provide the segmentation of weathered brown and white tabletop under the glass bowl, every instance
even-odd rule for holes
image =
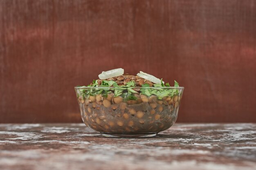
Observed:
[[[108,138],[84,124],[0,124],[1,170],[255,170],[256,124],[179,124]]]

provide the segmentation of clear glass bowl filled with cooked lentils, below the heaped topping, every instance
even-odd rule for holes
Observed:
[[[129,89],[170,93],[159,97],[127,87],[75,87],[86,126],[106,137],[152,137],[175,123],[184,87]]]

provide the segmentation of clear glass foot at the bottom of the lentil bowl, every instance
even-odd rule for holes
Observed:
[[[101,135],[105,137],[153,137],[157,135],[157,132],[152,133],[105,133],[101,132]]]

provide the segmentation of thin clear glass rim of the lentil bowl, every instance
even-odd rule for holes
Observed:
[[[141,88],[141,89],[184,89],[184,87],[84,87],[76,86],[75,89],[120,89],[120,88]]]

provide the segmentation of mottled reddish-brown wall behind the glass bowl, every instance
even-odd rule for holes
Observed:
[[[184,86],[179,122],[256,122],[256,1],[0,0],[0,122],[81,122],[120,67]]]

